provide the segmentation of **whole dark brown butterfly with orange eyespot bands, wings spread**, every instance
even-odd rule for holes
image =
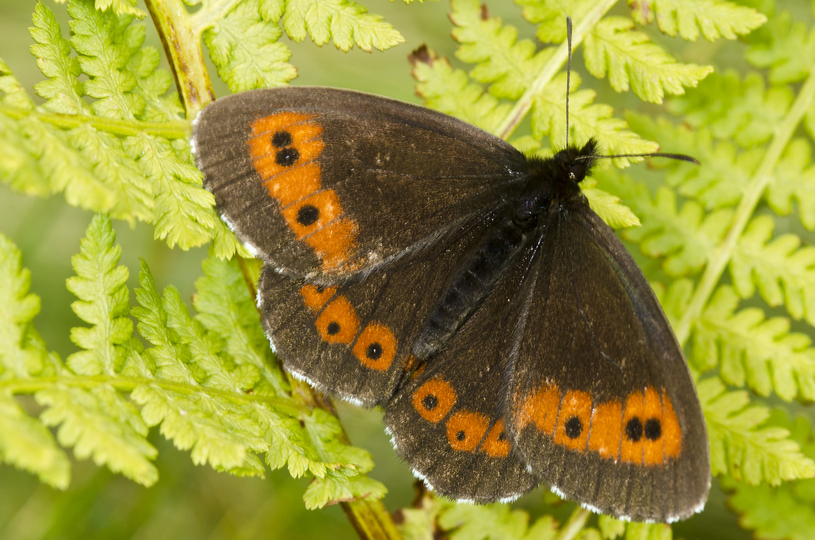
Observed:
[[[526,157],[428,108],[290,86],[214,101],[192,144],[262,259],[284,367],[380,405],[438,494],[508,501],[544,482],[632,520],[703,507],[707,434],[681,347],[579,188],[593,139]]]

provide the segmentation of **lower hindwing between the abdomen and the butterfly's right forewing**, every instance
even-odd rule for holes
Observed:
[[[399,455],[438,494],[492,502],[517,498],[540,481],[513,454],[500,392],[506,369],[500,343],[515,318],[505,308],[522,272],[513,268],[503,277],[385,407]]]

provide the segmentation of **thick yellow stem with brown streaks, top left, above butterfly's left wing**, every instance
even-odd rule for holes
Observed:
[[[215,99],[204,51],[201,50],[202,30],[194,24],[182,0],[145,0],[144,3],[170,60],[187,118],[194,118],[201,108]]]

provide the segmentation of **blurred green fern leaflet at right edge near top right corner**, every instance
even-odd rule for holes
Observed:
[[[756,68],[769,68],[770,82],[798,82],[809,75],[815,63],[815,29],[801,21],[792,22],[789,11],[774,15],[764,25],[766,39],[756,39],[747,51],[747,61]]]

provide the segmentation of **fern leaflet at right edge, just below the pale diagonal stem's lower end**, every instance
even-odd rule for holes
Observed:
[[[738,313],[738,295],[722,285],[696,321],[694,364],[719,367],[726,383],[747,386],[761,396],[775,391],[790,401],[815,399],[815,349],[805,334],[791,333],[782,317],[765,320],[760,308]]]

